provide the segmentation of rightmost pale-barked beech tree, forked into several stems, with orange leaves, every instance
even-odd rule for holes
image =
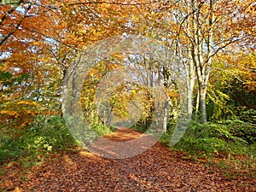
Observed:
[[[214,55],[232,44],[250,46],[255,16],[247,15],[253,1],[189,1],[191,30],[184,26],[189,38],[189,55],[195,66],[200,93],[201,123],[207,122],[206,95]],[[254,22],[255,23],[255,22]]]

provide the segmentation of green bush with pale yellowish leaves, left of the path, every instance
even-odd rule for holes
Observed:
[[[13,133],[12,133],[13,134]],[[67,149],[75,144],[60,116],[38,116],[22,134],[0,135],[0,161]]]

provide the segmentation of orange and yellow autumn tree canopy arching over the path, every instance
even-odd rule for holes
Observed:
[[[210,118],[207,100],[216,101],[213,92],[255,108],[240,96],[240,91],[255,93],[255,6],[253,0],[3,1],[0,120],[23,127],[35,115],[61,113],[61,86],[74,58],[114,35],[140,35],[166,44],[186,71],[189,116],[199,115],[202,123]],[[109,71],[95,70],[100,70],[93,73],[99,80]],[[93,86],[90,81],[87,88]],[[239,91],[230,96],[234,87]],[[124,104],[122,96],[129,98],[125,92],[119,96]]]

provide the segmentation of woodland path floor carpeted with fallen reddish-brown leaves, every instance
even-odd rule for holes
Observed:
[[[140,134],[118,129],[108,139],[128,141]],[[181,157],[162,143],[126,159],[73,149],[49,154],[28,169],[19,163],[2,166],[0,191],[256,191],[250,174],[227,177],[217,166]]]

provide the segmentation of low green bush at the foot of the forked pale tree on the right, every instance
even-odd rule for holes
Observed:
[[[160,141],[170,143],[172,132],[173,130],[165,133]],[[190,123],[181,140],[173,148],[195,157],[245,154],[250,150],[247,141],[233,135],[227,125],[202,125],[195,121]]]

